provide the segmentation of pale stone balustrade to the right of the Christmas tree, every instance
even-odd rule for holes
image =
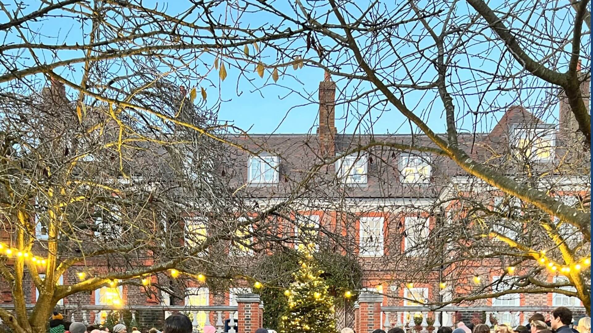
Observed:
[[[536,312],[549,313],[552,307],[533,307],[533,306],[445,306],[441,309],[428,309],[424,306],[382,306],[382,326],[385,331],[392,327],[401,327],[413,332],[417,327],[415,317],[422,316],[420,332],[428,332],[429,326],[436,332],[441,326],[454,328],[455,315],[457,312],[483,312],[485,315],[484,323],[490,327],[493,326],[493,318],[496,318],[498,324],[510,326],[527,325],[529,318]],[[584,307],[570,307],[573,311],[584,311]],[[406,315],[407,318],[406,318]],[[428,325],[427,319],[431,317],[434,324]]]

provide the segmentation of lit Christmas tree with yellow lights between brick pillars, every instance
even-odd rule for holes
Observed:
[[[284,292],[288,306],[280,318],[281,333],[336,333],[334,299],[311,255],[314,249],[314,244],[300,249],[301,267],[293,274],[295,282]]]

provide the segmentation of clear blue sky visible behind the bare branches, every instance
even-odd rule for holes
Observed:
[[[31,12],[39,6],[36,1],[25,1],[31,5],[27,8],[26,12]],[[165,2],[166,3],[166,2]],[[151,4],[145,2],[147,7],[151,7]],[[280,7],[285,6],[283,2],[275,1],[275,5]],[[166,12],[170,15],[175,15],[178,12],[183,11],[187,8],[187,4],[184,1],[171,1],[167,3]],[[13,5],[14,8],[14,5]],[[286,7],[284,7],[286,8]],[[464,10],[463,7],[461,10]],[[0,14],[0,22],[6,21],[5,14]],[[248,20],[255,20],[250,18]],[[261,20],[258,18],[257,20]],[[270,24],[274,24],[274,18],[266,17]],[[255,23],[247,21],[247,23]],[[38,29],[40,33],[43,33],[43,39],[47,43],[74,43],[75,41],[81,40],[84,35],[79,30],[79,24],[76,24],[74,20],[57,20],[49,19],[46,21],[40,21],[36,23],[34,29]],[[413,31],[409,31],[410,34]],[[51,36],[60,36],[59,39],[54,39]],[[14,37],[14,36],[12,36]],[[11,40],[11,36],[8,36],[8,40]],[[480,47],[474,47],[471,52],[479,54],[484,52]],[[63,53],[67,55],[67,53]],[[491,53],[495,59],[500,53]],[[72,56],[72,55],[68,55]],[[79,56],[79,55],[77,55]],[[489,66],[489,63],[484,62],[483,66]],[[319,82],[323,79],[323,71],[317,68],[306,67],[299,69],[297,72],[293,72],[292,68],[288,68],[287,71],[291,74],[297,75],[298,81],[289,76],[280,76],[277,84],[269,78],[269,73],[263,79],[260,79],[256,73],[247,73],[248,78],[254,79],[256,87],[250,84],[246,79],[238,79],[238,69],[227,68],[228,78],[219,84],[216,73],[212,73],[209,76],[216,85],[219,87],[211,87],[206,85],[208,91],[209,101],[211,98],[215,98],[220,91],[220,98],[224,102],[220,105],[219,119],[227,120],[234,123],[236,126],[243,129],[249,129],[250,133],[307,133],[312,129],[313,131],[315,124],[317,124],[317,113],[318,106],[312,101],[317,101],[317,87]],[[69,72],[71,69],[62,69],[62,74],[71,76],[79,75],[80,71]],[[58,71],[59,72],[59,71]],[[462,75],[467,75],[463,74]],[[239,80],[237,82],[237,80]],[[267,81],[266,81],[267,80]],[[266,85],[263,85],[266,82]],[[345,89],[343,81],[337,82],[338,93]],[[263,87],[262,87],[263,86]],[[256,89],[257,88],[257,89]],[[291,89],[299,92],[291,93]],[[350,87],[346,89],[350,93],[352,92]],[[311,98],[306,98],[311,96]],[[517,96],[512,94],[502,95],[500,100],[492,101],[492,104],[511,104],[513,100],[517,99]],[[480,103],[477,96],[465,97],[463,101],[456,101],[460,110],[473,110],[477,104]],[[428,96],[424,95],[423,92],[412,92],[406,95],[406,104],[413,108],[415,113],[423,114],[423,119],[432,127],[436,132],[444,132],[444,116],[442,114],[442,105],[438,99],[435,100],[434,92]],[[479,110],[483,111],[484,106],[487,103],[482,102]],[[356,109],[361,107],[361,110]],[[476,107],[477,108],[477,107]],[[551,107],[552,113],[557,114],[557,106]],[[430,112],[427,114],[427,110]],[[366,111],[364,105],[352,103],[350,105],[339,105],[336,108],[336,127],[340,131],[346,129],[346,132],[352,132],[356,124],[355,117],[358,113]],[[499,111],[495,114],[490,114],[488,119],[480,121],[478,132],[486,131],[492,128],[496,123],[496,120],[502,116],[503,111]],[[471,117],[466,117],[458,120],[460,127],[471,130]],[[373,110],[371,115],[366,119],[366,127],[371,127],[374,133],[409,133],[410,126],[407,124],[406,119],[401,116],[399,111],[391,105],[387,105],[384,110]],[[363,128],[362,130],[370,130]]]

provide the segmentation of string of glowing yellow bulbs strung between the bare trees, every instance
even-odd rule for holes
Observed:
[[[40,267],[47,264],[47,260],[42,257],[36,256],[36,255],[32,254],[31,252],[22,251],[17,248],[12,248],[11,246],[8,246],[8,245],[2,244],[2,243],[0,243],[0,255],[5,255],[8,258],[12,258],[12,257],[23,258],[23,260],[31,261],[33,264],[39,265]],[[573,271],[578,272],[578,271],[581,271],[583,268],[591,266],[591,255],[581,258],[579,260],[576,260],[570,265],[558,264],[557,262],[550,260],[550,258],[546,256],[545,250],[541,250],[540,252],[538,252],[537,257],[538,257],[537,262],[540,265],[546,267],[549,271],[551,271],[551,273],[560,273],[565,276],[568,276]],[[508,266],[508,267],[506,267],[505,271],[509,275],[514,275],[515,272],[517,271],[517,267]],[[182,274],[180,271],[175,270],[175,269],[170,269],[170,270],[168,270],[168,272],[169,272],[169,275],[171,276],[171,278],[177,278],[180,276],[180,274]],[[183,274],[185,274],[185,273],[183,273]],[[79,280],[81,280],[81,281],[83,281],[87,278],[87,273],[85,273],[85,272],[78,272],[77,275],[78,275]],[[189,275],[196,277],[197,280],[200,282],[206,281],[206,276],[202,273],[197,274],[197,275],[196,274],[189,274]],[[151,276],[143,276],[140,278],[140,281],[143,286],[148,286],[149,284],[151,284]],[[475,284],[482,283],[482,277],[480,277],[479,275],[473,276],[473,282]],[[117,287],[119,285],[119,283],[122,283],[122,280],[114,279],[114,280],[109,280],[109,282],[108,282],[110,287]],[[264,285],[260,281],[254,281],[253,287],[256,289],[261,289],[264,287]],[[412,289],[414,287],[414,283],[413,282],[406,283],[406,287],[408,289]],[[445,288],[447,288],[447,283],[441,282],[441,283],[439,283],[439,287],[441,289],[445,289]],[[378,284],[375,288],[377,289],[377,292],[382,293],[382,291],[383,291],[382,284]],[[285,294],[286,293],[289,293],[289,290],[285,290]],[[350,290],[346,290],[346,292],[343,293],[343,296],[346,299],[349,299],[350,297],[353,296],[353,292]]]

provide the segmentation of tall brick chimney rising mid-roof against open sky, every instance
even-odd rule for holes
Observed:
[[[319,82],[319,127],[317,127],[320,155],[325,157],[332,157],[336,153],[335,105],[336,83],[331,81],[330,73],[326,72],[323,81]]]

